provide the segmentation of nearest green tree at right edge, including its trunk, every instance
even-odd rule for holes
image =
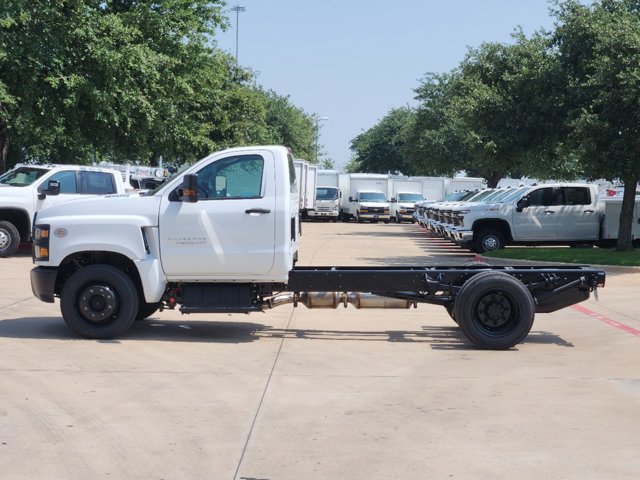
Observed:
[[[559,149],[590,179],[620,179],[625,190],[618,250],[631,250],[640,180],[640,1],[557,5],[555,45],[567,78],[569,135]]]

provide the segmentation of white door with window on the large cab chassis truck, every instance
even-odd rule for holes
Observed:
[[[271,271],[275,256],[273,154],[214,158],[198,174],[198,201],[176,190],[160,206],[160,249],[167,276],[238,279]]]

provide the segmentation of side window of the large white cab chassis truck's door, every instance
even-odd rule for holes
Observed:
[[[228,157],[198,172],[198,198],[260,198],[264,159],[259,155]]]

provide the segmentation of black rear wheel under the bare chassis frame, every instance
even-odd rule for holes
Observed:
[[[522,342],[531,330],[535,303],[531,292],[512,276],[480,272],[462,286],[453,316],[467,339],[490,350]]]

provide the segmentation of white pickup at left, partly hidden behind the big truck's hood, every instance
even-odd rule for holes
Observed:
[[[124,194],[114,169],[75,165],[20,164],[0,176],[0,257],[31,240],[35,213],[87,195]]]

